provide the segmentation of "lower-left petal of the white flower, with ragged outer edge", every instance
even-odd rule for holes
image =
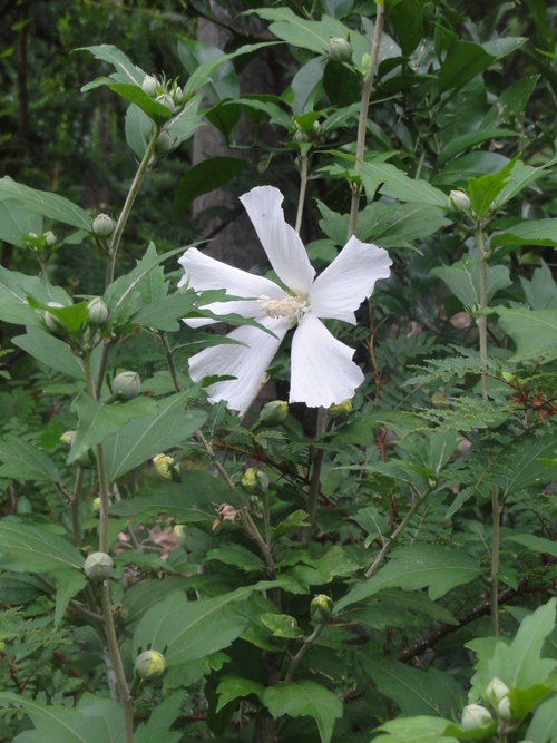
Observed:
[[[209,402],[227,400],[227,408],[240,411],[245,411],[248,407],[263,374],[291,326],[290,321],[273,320],[266,315],[261,323],[272,330],[276,338],[257,327],[244,325],[229,333],[228,338],[245,345],[214,345],[189,359],[189,374],[194,382],[213,374],[236,378],[211,384],[207,388]]]

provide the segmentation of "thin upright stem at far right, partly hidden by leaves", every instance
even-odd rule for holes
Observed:
[[[487,361],[487,314],[488,296],[487,296],[487,262],[488,256],[483,244],[483,232],[481,227],[476,231],[476,246],[478,248],[478,256],[480,261],[480,310],[482,313],[478,317],[478,333],[480,341],[480,359]],[[486,373],[481,374],[481,398],[487,401],[488,394],[488,377]],[[486,432],[486,438],[489,440],[491,434],[489,430]],[[488,454],[488,468],[491,467],[491,457]],[[499,550],[500,550],[500,505],[499,491],[495,485],[490,487],[491,492],[491,632],[494,635],[499,634],[499,598],[498,589],[499,581],[497,574],[499,573]]]

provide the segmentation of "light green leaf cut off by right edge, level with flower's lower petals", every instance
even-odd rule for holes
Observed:
[[[510,361],[534,361],[546,356],[541,363],[555,356],[557,349],[557,309],[529,310],[497,307],[499,326],[510,335],[517,350]]]

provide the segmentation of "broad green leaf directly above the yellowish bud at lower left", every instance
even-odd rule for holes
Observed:
[[[254,587],[238,588],[216,598],[188,602],[184,593],[172,594],[144,615],[134,633],[134,655],[138,648],[165,651],[172,667],[197,661],[228,647],[247,628],[248,620],[229,610],[228,604],[246,598]]]

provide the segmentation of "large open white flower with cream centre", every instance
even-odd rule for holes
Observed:
[[[245,411],[256,393],[286,331],[297,325],[292,339],[290,402],[329,408],[354,395],[363,382],[352,361],[353,349],[338,341],[321,319],[355,323],[354,311],[373,291],[378,278],[389,276],[387,251],[351,237],[336,258],[317,278],[297,233],[286,224],[277,188],[262,186],[241,196],[253,226],[280,281],[290,290],[263,276],[215,261],[190,247],[179,263],[196,292],[225,289],[242,301],[207,305],[215,314],[237,313],[252,317],[276,338],[257,327],[243,325],[229,338],[243,345],[216,345],[189,360],[189,373],[197,382],[213,374],[236,379],[207,388],[209,402],[226,400],[231,410]],[[192,327],[211,320],[186,320]]]

